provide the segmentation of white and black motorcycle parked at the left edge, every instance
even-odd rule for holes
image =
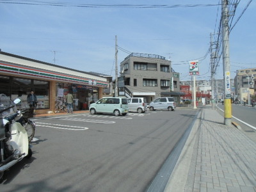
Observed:
[[[22,116],[15,104],[20,99],[8,99],[0,94],[0,179],[4,171],[21,161],[24,157],[30,158],[32,150],[29,147],[28,134],[20,123]]]

